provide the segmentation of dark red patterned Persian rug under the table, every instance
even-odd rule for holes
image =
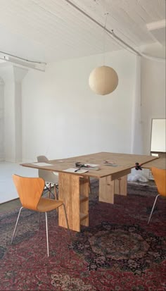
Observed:
[[[147,224],[156,187],[128,183],[114,204],[98,202],[98,181],[91,188],[89,227],[72,240],[49,213],[49,258],[44,214],[39,230],[38,214],[24,209],[12,245],[18,209],[0,215],[0,290],[166,290],[164,199]]]

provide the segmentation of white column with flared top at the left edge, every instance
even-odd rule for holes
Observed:
[[[27,69],[6,64],[0,68],[4,80],[5,161],[22,160],[22,81]]]

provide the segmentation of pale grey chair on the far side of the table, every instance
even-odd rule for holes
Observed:
[[[37,156],[37,161],[48,163],[49,159],[47,159],[46,156]],[[57,199],[57,197],[58,197],[58,173],[39,169],[38,175],[39,175],[39,178],[43,178],[45,180],[45,187],[49,191],[49,197],[50,197],[50,193],[53,194],[51,192],[51,185],[53,185],[55,199]],[[47,184],[49,184],[49,185],[47,186]]]

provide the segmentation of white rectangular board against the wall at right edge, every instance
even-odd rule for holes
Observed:
[[[151,151],[165,152],[166,119],[152,119],[151,126]]]

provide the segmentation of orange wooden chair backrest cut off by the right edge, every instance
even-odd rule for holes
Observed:
[[[166,170],[152,168],[152,175],[158,188],[158,193],[166,197]]]

